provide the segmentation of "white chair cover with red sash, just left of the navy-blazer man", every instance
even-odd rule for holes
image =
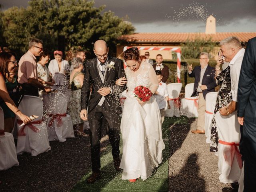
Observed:
[[[198,96],[191,97],[194,91],[194,83],[185,86],[185,98],[181,100],[180,114],[190,117],[198,117]]]

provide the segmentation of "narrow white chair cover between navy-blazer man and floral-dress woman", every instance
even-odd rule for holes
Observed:
[[[211,142],[212,118],[214,114],[217,96],[218,92],[210,92],[205,96],[206,112],[204,114],[204,131],[206,136],[206,143]]]

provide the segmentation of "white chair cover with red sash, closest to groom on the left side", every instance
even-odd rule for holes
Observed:
[[[70,95],[71,90],[58,90],[50,94],[43,94],[50,141],[64,142],[66,138],[75,137],[71,117],[66,114]]]

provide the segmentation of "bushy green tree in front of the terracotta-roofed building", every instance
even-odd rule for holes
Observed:
[[[216,46],[217,43],[212,42],[211,38],[203,39],[198,36],[194,41],[187,40],[181,44],[181,52],[184,58],[199,58],[201,52],[212,54]]]

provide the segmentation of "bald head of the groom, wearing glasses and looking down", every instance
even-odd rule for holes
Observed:
[[[101,63],[104,63],[108,57],[108,46],[104,40],[98,40],[94,43],[94,54]]]

